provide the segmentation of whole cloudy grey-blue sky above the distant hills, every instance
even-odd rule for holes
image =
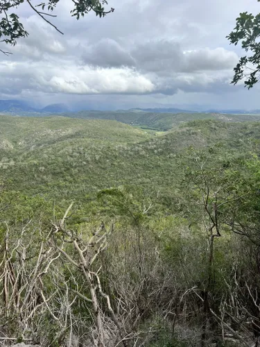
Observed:
[[[0,55],[0,99],[71,109],[180,107],[260,109],[260,84],[230,85],[243,55],[226,36],[257,0],[107,0],[105,18],[71,17],[60,0],[61,35],[26,1],[17,13],[30,34]],[[39,0],[32,0],[33,4]]]

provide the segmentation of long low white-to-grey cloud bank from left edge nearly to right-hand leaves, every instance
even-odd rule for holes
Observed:
[[[135,67],[93,67],[73,65],[70,60],[35,60],[27,62],[8,60],[0,63],[0,92],[19,94],[27,91],[63,94],[166,94],[178,90],[202,92],[225,85],[225,71],[168,70],[160,66],[157,71],[142,71]]]

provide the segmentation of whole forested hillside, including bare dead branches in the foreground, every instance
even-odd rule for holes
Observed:
[[[260,122],[135,115],[0,117],[1,332],[42,346],[252,346]]]

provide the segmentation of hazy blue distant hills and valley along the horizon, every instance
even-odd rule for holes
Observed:
[[[223,121],[258,121],[260,110],[207,110],[198,112],[180,108],[132,108],[130,110],[82,110],[71,111],[67,105],[55,103],[44,108],[33,108],[25,101],[0,100],[0,112],[3,115],[21,117],[46,117],[61,115],[63,117],[82,119],[107,119],[120,121],[132,126],[151,130],[169,130],[184,121],[194,119],[215,119]]]

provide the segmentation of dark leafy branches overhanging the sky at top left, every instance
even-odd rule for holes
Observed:
[[[17,39],[28,36],[28,32],[20,22],[19,16],[15,13],[15,10],[24,2],[27,2],[31,10],[40,16],[46,23],[63,34],[55,24],[47,19],[48,17],[57,17],[53,15],[52,12],[60,0],[49,0],[38,3],[37,5],[33,5],[31,0],[0,0],[0,14],[2,15],[0,22],[0,42],[15,46]],[[89,12],[95,12],[96,16],[105,17],[108,13],[114,12],[114,8],[105,10],[104,6],[106,5],[106,0],[72,0],[71,16],[80,19],[80,17],[84,17],[84,15],[87,15]],[[0,51],[7,55],[10,54],[10,52],[3,51],[2,49],[0,49]]]

